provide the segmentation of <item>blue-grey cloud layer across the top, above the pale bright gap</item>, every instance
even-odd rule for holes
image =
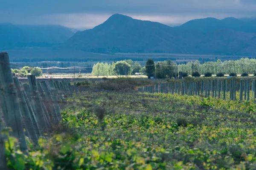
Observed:
[[[256,0],[255,0],[256,1]],[[67,14],[120,13],[146,16],[253,17],[254,0],[0,0],[0,22],[40,22],[40,18]],[[38,20],[36,19],[38,17]],[[62,19],[61,19],[62,20]],[[43,21],[42,21],[43,22]],[[47,20],[44,19],[44,23]]]

